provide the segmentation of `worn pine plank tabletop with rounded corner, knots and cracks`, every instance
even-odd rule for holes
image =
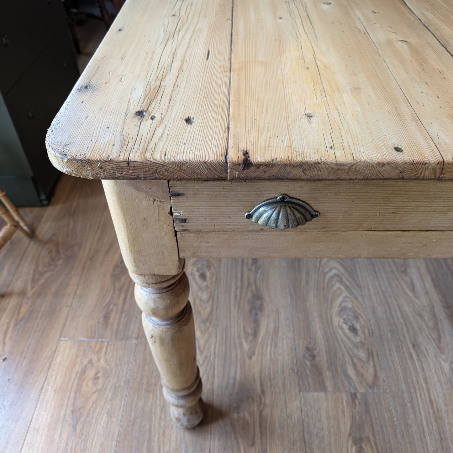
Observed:
[[[52,123],[104,179],[453,179],[451,0],[128,0]]]

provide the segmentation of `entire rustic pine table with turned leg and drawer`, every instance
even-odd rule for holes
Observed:
[[[452,18],[448,0],[124,4],[46,146],[102,180],[177,424],[203,416],[185,258],[453,256]]]

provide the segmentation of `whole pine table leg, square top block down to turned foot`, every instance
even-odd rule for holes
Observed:
[[[189,281],[176,245],[166,181],[102,181],[123,259],[136,282],[135,299],[163,393],[177,424],[200,423]]]

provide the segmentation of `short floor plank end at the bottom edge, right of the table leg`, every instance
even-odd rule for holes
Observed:
[[[304,393],[302,406],[307,453],[401,452],[385,394]]]

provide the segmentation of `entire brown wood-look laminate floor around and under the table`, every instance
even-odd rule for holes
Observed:
[[[203,423],[170,420],[99,181],[0,251],[0,452],[453,452],[453,260],[188,260]]]

